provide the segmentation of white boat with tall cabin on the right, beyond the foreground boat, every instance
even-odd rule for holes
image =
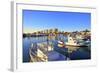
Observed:
[[[65,42],[67,46],[78,46],[78,47],[86,47],[88,46],[87,42],[82,39],[77,39],[71,36],[68,36],[68,41]]]

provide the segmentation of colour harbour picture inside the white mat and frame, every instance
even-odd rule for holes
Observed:
[[[23,63],[91,59],[91,13],[23,10]]]

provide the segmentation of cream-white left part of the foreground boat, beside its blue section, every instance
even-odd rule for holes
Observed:
[[[32,43],[30,48],[31,62],[48,61],[48,52],[53,51],[53,47],[47,43]]]

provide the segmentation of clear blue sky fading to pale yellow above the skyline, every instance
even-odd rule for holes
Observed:
[[[91,29],[91,13],[23,10],[22,17],[24,33],[55,28],[66,32]]]

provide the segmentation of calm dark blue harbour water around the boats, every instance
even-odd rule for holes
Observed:
[[[59,36],[59,38],[62,36]],[[64,41],[67,41],[66,37],[63,37]],[[29,62],[29,48],[32,43],[35,42],[46,42],[47,37],[30,37],[30,38],[23,38],[23,62]],[[91,52],[90,47],[58,47],[57,45],[57,39],[54,38],[52,40],[49,40],[53,43],[54,51],[62,54],[63,56],[69,58],[70,60],[83,60],[83,59],[90,59],[91,58]],[[61,58],[61,57],[60,57]]]

